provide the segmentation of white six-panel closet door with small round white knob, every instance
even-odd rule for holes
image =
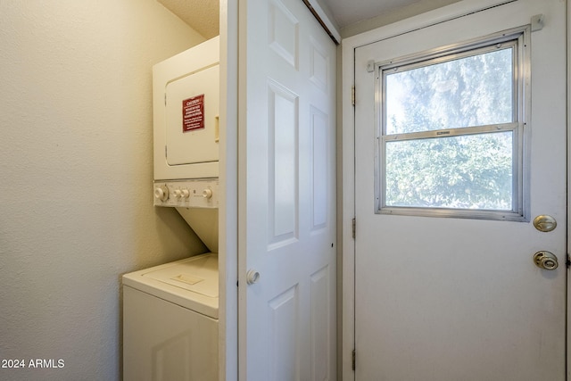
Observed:
[[[301,0],[241,8],[240,378],[335,373],[335,44]]]

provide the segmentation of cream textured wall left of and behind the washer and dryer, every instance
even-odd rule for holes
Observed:
[[[151,67],[202,41],[154,0],[0,2],[0,359],[64,360],[0,379],[120,379],[120,275],[204,250],[151,187]]]

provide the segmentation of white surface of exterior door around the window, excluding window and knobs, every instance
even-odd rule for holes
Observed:
[[[549,214],[558,227],[377,214],[376,73],[367,63],[518,28],[540,13],[525,181],[531,219]],[[564,2],[522,0],[356,49],[356,379],[565,379],[565,14]],[[541,250],[559,269],[534,265]]]

